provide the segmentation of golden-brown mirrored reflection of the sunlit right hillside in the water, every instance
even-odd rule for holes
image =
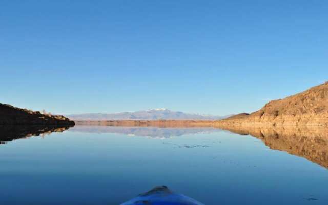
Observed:
[[[324,126],[221,126],[261,139],[274,150],[304,157],[328,168],[328,128]]]

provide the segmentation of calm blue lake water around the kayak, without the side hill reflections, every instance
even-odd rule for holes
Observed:
[[[0,204],[120,204],[159,185],[207,205],[328,203],[324,166],[214,128],[75,126],[0,145]]]

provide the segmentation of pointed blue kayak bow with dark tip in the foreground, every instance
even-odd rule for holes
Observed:
[[[166,186],[155,187],[154,189],[140,194],[139,196],[122,203],[121,205],[203,205],[202,203],[182,194],[175,194]]]

